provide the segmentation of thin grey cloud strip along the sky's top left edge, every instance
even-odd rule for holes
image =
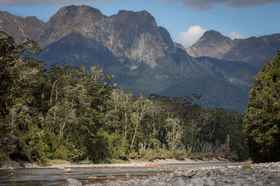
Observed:
[[[69,5],[69,4],[85,4],[85,3],[97,3],[107,2],[110,0],[0,0],[0,6],[31,6],[31,5]]]

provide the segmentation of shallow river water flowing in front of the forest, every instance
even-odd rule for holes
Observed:
[[[108,168],[72,168],[73,173],[62,173],[59,169],[15,169],[15,171],[0,170],[0,185],[62,185],[66,178],[75,178],[81,183],[94,183],[106,180],[106,176],[124,177],[130,174],[130,178],[153,176],[157,173],[172,173],[175,170],[189,169],[190,167],[207,166],[235,166],[238,163],[195,163],[195,164],[168,164],[148,167],[108,167]],[[13,177],[10,174],[13,173]],[[89,176],[97,176],[97,179],[89,179]]]

